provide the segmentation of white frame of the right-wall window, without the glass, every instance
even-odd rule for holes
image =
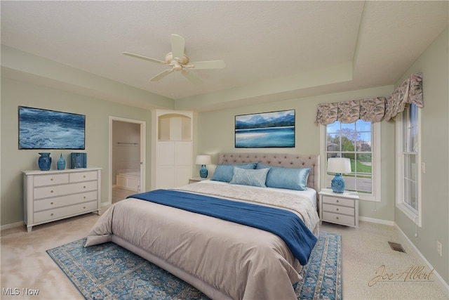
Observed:
[[[415,105],[415,104],[411,104]],[[404,114],[410,109],[396,115],[396,207],[403,212],[413,223],[421,227],[421,184],[422,184],[422,162],[421,162],[421,110],[417,109],[417,152],[416,152],[416,185],[417,185],[417,208],[414,209],[404,201]]]

